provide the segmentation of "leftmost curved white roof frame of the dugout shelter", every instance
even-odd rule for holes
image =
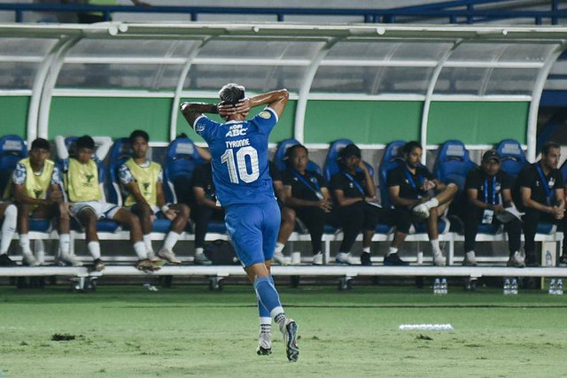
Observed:
[[[39,108],[43,93],[43,86],[45,78],[50,71],[53,60],[58,57],[59,51],[65,47],[66,43],[72,40],[73,37],[66,36],[56,42],[48,51],[42,64],[39,66],[37,73],[35,73],[34,84],[32,86],[32,96],[29,100],[29,107],[27,109],[27,145],[37,137],[37,119],[39,117]]]

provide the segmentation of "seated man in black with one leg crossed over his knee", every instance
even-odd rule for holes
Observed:
[[[406,143],[403,152],[405,164],[392,169],[386,181],[392,203],[396,209],[408,212],[415,220],[427,220],[433,264],[445,266],[447,260],[439,247],[437,220],[453,201],[457,186],[454,183],[445,185],[421,165],[423,148],[419,142]],[[384,261],[388,257],[389,254]]]

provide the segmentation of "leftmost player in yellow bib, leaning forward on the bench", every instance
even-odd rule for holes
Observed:
[[[63,194],[63,185],[58,166],[50,160],[50,143],[43,138],[32,142],[29,157],[19,160],[12,174],[12,196],[18,205],[19,246],[23,261],[29,266],[38,266],[29,247],[29,218],[55,219],[59,233],[58,256],[63,266],[82,266],[69,253],[69,204]]]

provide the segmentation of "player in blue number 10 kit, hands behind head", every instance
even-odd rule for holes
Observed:
[[[283,312],[270,274],[280,210],[268,172],[268,135],[276,126],[289,97],[286,89],[245,97],[245,88],[227,84],[219,92],[220,104],[183,103],[181,112],[209,145],[217,199],[225,209],[225,223],[238,258],[254,285],[260,312],[258,354],[270,354],[271,319],[283,333],[287,358],[299,359],[298,325]],[[250,109],[265,105],[246,120]],[[219,113],[226,123],[203,113]]]

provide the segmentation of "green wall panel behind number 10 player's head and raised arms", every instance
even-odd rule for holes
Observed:
[[[183,103],[185,101],[189,102],[198,102],[198,103],[216,103],[217,100],[213,98],[183,98],[180,102]],[[285,107],[285,111],[282,114],[282,117],[278,121],[276,127],[272,130],[269,135],[269,141],[272,143],[278,143],[283,139],[288,139],[293,137],[293,123],[295,122],[295,108],[297,106],[297,101],[288,101],[287,106]],[[264,109],[264,106],[259,106],[257,108],[252,109],[250,112],[250,116],[253,117],[254,115],[258,114]],[[216,120],[217,122],[222,122],[221,117],[216,114],[209,114],[209,118],[212,120]],[[179,117],[177,118],[177,134],[185,133],[187,134],[190,139],[195,142],[203,142],[203,139],[194,133],[191,130],[191,127],[181,114],[179,113]]]

